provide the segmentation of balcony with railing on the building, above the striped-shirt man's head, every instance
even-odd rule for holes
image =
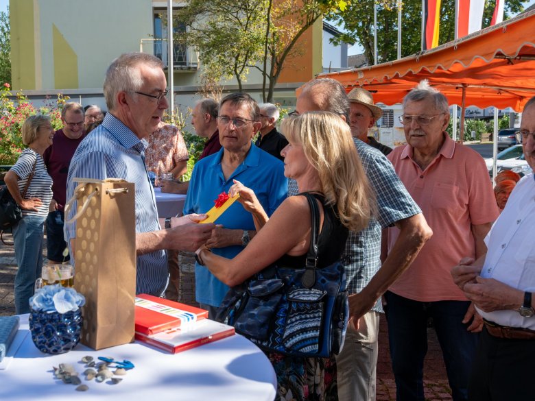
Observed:
[[[173,69],[174,71],[191,71],[199,69],[199,53],[192,47],[175,44],[173,46]],[[169,46],[165,38],[146,38],[139,42],[139,51],[154,54],[163,61],[165,67],[169,66]]]

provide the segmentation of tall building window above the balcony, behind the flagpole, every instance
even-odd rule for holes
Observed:
[[[180,32],[186,32],[186,27],[183,24],[173,25],[174,34],[180,34]],[[154,56],[160,58],[165,65],[168,56],[167,46],[167,9],[155,8],[154,9]],[[187,60],[187,47],[174,43],[173,45],[173,64],[176,66],[186,66]]]

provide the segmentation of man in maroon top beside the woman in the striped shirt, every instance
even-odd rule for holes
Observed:
[[[47,257],[49,263],[70,260],[64,256],[67,247],[63,238],[64,206],[67,191],[67,173],[73,154],[86,136],[84,109],[81,104],[69,102],[61,110],[63,127],[54,134],[53,143],[45,150],[43,160],[52,178],[52,202],[47,217]]]

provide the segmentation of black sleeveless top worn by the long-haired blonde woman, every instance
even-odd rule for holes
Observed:
[[[327,267],[342,257],[342,252],[346,247],[348,228],[342,224],[331,205],[325,204],[323,195],[311,193],[323,206],[323,226],[320,228],[318,236],[318,268]],[[299,196],[299,195],[296,195]],[[294,267],[302,269],[305,267],[307,252],[302,256],[284,255],[276,261],[280,267]]]

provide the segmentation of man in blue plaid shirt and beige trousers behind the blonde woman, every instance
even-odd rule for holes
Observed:
[[[349,100],[344,87],[331,79],[309,82],[297,99],[296,114],[329,111],[348,121]],[[337,356],[337,386],[340,400],[375,400],[377,334],[381,295],[416,258],[432,232],[422,211],[407,193],[385,156],[354,138],[368,180],[377,196],[378,215],[361,232],[350,232],[344,266],[350,293],[353,319],[342,352]],[[288,194],[298,193],[289,180]],[[401,230],[394,249],[381,266],[381,229],[396,226]]]

